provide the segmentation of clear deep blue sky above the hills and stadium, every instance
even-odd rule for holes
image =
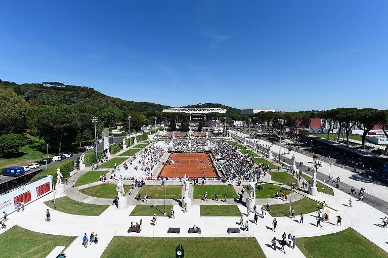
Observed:
[[[388,1],[3,1],[0,78],[170,106],[388,108]]]

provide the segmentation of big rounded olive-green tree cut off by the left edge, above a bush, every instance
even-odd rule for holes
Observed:
[[[28,104],[11,88],[0,88],[0,135],[21,132]]]

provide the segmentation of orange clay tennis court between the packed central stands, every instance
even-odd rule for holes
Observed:
[[[206,178],[217,177],[206,153],[173,153],[171,157],[175,163],[164,166],[162,177],[183,178],[186,174],[190,178],[202,178],[203,169]]]

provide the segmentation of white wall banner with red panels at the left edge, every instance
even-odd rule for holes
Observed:
[[[16,189],[8,194],[0,196],[0,216],[3,216],[3,211],[10,214],[16,211],[16,204],[23,201],[24,205],[33,202],[47,193],[53,191],[51,177],[40,179],[36,182]]]

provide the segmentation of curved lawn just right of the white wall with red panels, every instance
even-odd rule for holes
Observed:
[[[45,201],[45,204],[50,208],[54,208],[54,201]],[[106,210],[108,205],[96,205],[78,202],[73,199],[70,199],[67,196],[63,196],[55,199],[55,206],[57,210],[75,214],[75,215],[85,215],[85,216],[99,216],[104,210]]]

